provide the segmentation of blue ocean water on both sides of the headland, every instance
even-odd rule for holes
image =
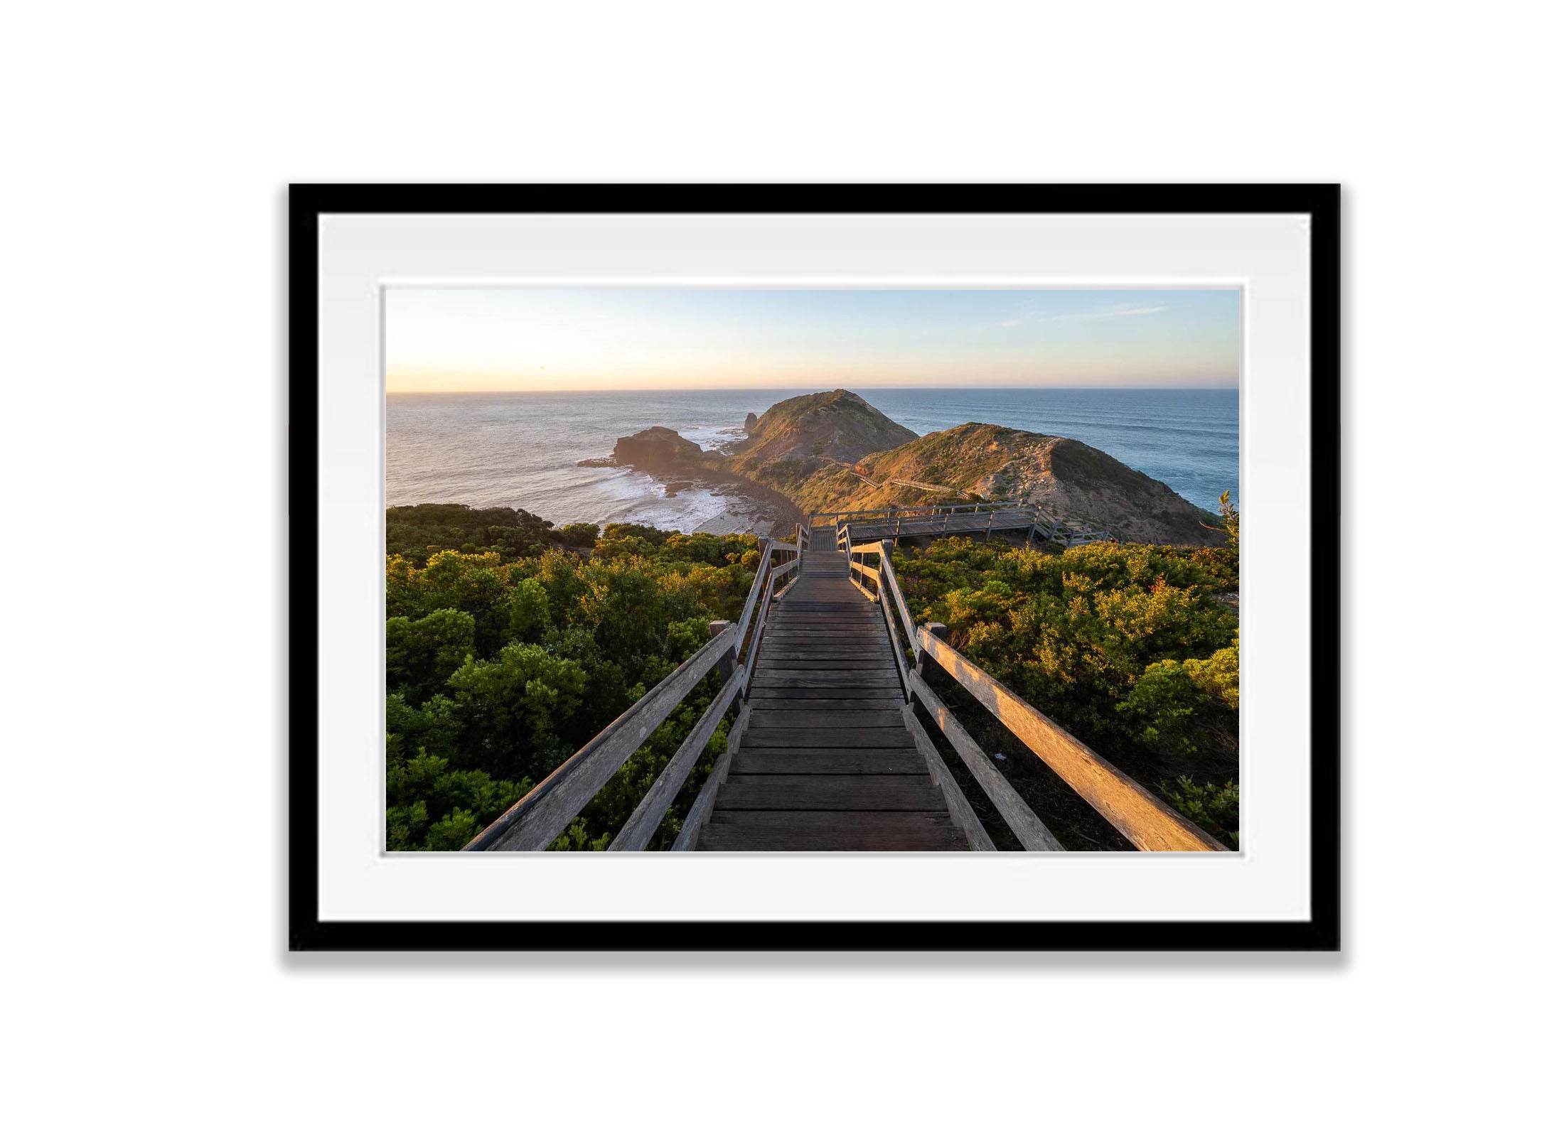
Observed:
[[[743,438],[762,414],[805,391],[547,391],[386,397],[386,505],[511,505],[555,524],[635,521],[694,532],[729,504],[632,469],[577,466],[621,435],[671,427],[705,449]],[[1195,505],[1239,499],[1239,393],[1060,388],[865,388],[873,407],[926,435],[993,422],[1079,438],[1167,482]]]

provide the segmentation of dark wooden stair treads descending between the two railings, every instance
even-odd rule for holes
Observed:
[[[749,683],[749,726],[694,843],[708,851],[968,849],[929,777],[881,608],[816,529]]]

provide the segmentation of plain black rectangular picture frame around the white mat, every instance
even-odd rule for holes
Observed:
[[[1311,918],[1306,921],[324,921],[319,918],[319,217],[375,213],[1309,214]],[[1340,948],[1340,186],[294,185],[288,199],[288,946],[294,951],[1336,951]]]

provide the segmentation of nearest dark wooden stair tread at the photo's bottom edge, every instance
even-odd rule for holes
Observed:
[[[962,832],[938,813],[848,810],[713,812],[701,834],[715,852],[956,852]]]

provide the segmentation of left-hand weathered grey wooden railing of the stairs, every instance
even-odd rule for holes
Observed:
[[[466,848],[475,852],[547,849],[554,838],[565,832],[565,827],[608,784],[608,779],[640,749],[652,730],[662,726],[663,719],[688,698],[696,683],[716,668],[723,677],[721,690],[608,846],[610,851],[644,849],[716,732],[723,715],[727,713],[734,699],[744,693],[754,671],[755,651],[765,632],[773,593],[788,577],[798,579],[799,551],[807,546],[807,530],[802,527],[795,532],[791,543],[763,540],[755,579],[744,597],[738,622],[713,621],[710,626],[712,638],[694,655],[674,668],[673,674],[647,691],[633,707],[561,762],[554,773],[533,787],[532,793],[505,810]],[[773,565],[771,557],[776,554],[780,554],[782,560]],[[782,591],[787,588],[791,588],[791,580],[787,580]],[[743,655],[743,663],[740,663],[740,655]],[[690,848],[696,830],[710,813],[716,785],[721,784],[718,773],[726,774],[727,762],[738,748],[738,738],[743,735],[746,723],[748,710],[741,710],[727,732],[727,752],[718,759],[718,769],[713,771],[713,777],[707,780],[696,798],[674,849]]]

